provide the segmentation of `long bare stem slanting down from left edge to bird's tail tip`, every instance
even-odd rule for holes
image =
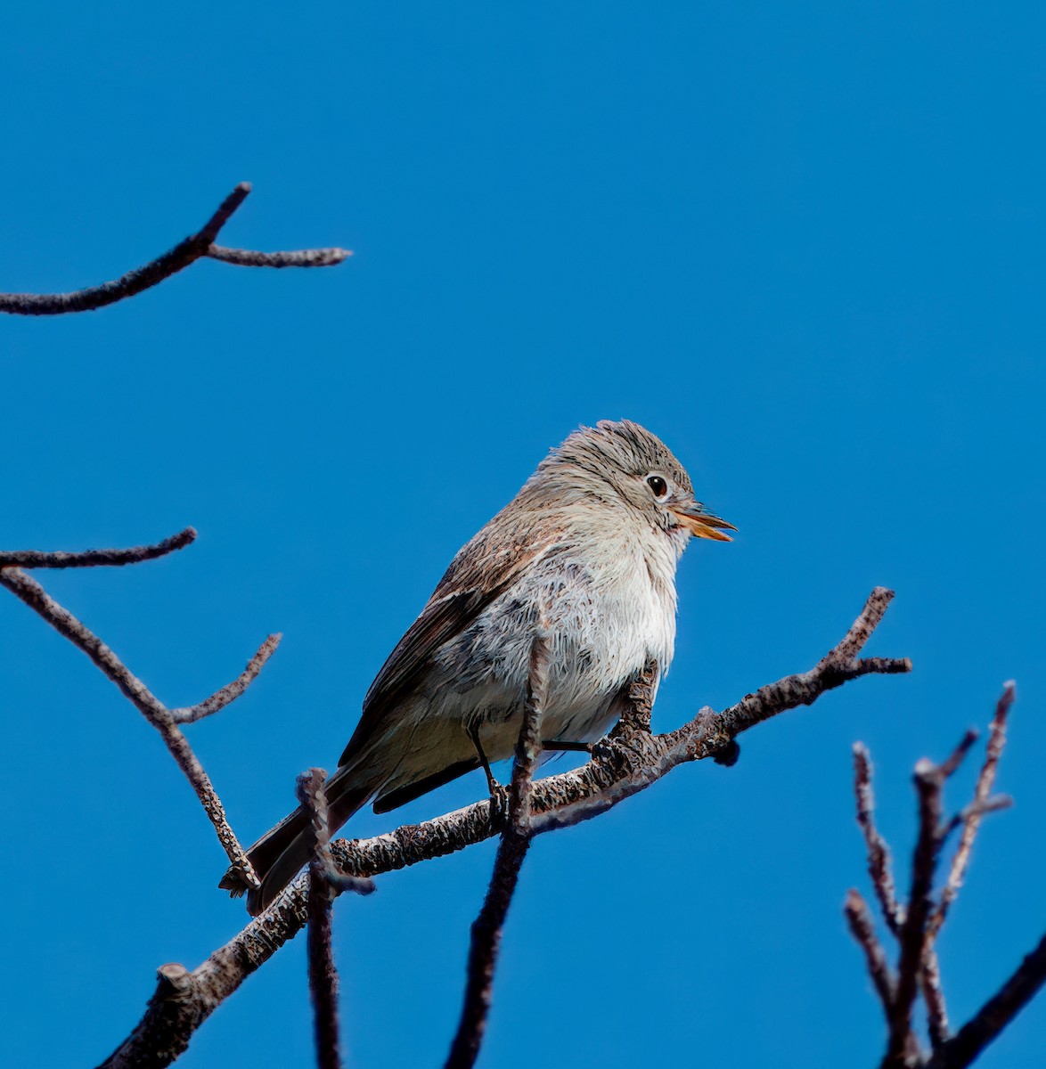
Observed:
[[[101,638],[82,624],[68,609],[63,608],[44,588],[17,568],[0,570],[0,586],[6,587],[34,613],[46,620],[60,635],[82,650],[102,672],[120,688],[121,693],[160,733],[178,766],[196,791],[204,812],[214,825],[229,861],[241,872],[243,880],[258,886],[258,876],[243,847],[226,818],[225,807],[211,779],[193,753],[185,735],[171,718],[167,707],[135,676]]]

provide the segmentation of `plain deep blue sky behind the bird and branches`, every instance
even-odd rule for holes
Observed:
[[[1016,807],[984,828],[941,941],[954,1019],[994,992],[1046,919],[1041,5],[189,0],[4,24],[0,289],[114,277],[241,180],[226,244],[355,251],[319,272],[200,263],[98,313],[0,323],[0,541],[198,527],[155,563],[43,576],[171,704],[286,634],[190,729],[245,841],[301,770],[333,766],[458,546],[570,430],[627,416],[740,529],[683,558],[656,725],[809,667],[876,584],[897,599],[872,652],[916,670],[538,841],[484,1064],[873,1064],[841,912],[865,888],[850,745],[872,748],[903,881],[912,765],[1015,678]],[[152,729],[10,597],[0,638],[0,872],[22,926],[0,1060],[91,1065],[157,965],[197,964],[244,915]],[[353,1064],[442,1062],[491,859],[339,902]],[[309,1020],[297,941],[183,1064],[308,1065]],[[1041,998],[983,1064],[1032,1064],[1044,1027]]]

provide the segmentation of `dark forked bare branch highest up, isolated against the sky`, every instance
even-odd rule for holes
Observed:
[[[136,267],[111,282],[103,282],[101,285],[72,293],[0,293],[0,312],[13,315],[60,315],[65,312],[95,311],[126,297],[134,297],[143,290],[184,270],[201,257],[252,267],[326,267],[341,263],[350,255],[344,249],[253,252],[216,246],[214,239],[218,236],[218,232],[243,204],[249,192],[250,183],[241,182],[197,233],[179,242],[174,248],[144,266]]]

